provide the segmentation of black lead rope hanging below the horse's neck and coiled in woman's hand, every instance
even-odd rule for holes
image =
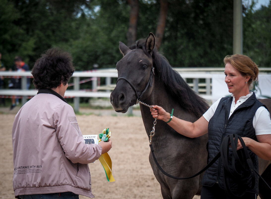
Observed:
[[[237,148],[238,138],[241,141],[243,149],[238,150],[239,152],[237,153],[236,148]],[[231,160],[229,158],[230,144],[231,144],[231,148],[233,149],[232,150],[233,155],[231,157]],[[211,162],[209,162],[209,164],[207,166],[205,166],[202,170],[200,170],[195,175],[185,177],[185,178],[179,178],[176,176],[172,176],[172,175],[168,174],[167,172],[165,172],[162,169],[162,167],[159,165],[159,163],[157,162],[157,159],[154,155],[154,150],[153,150],[153,147],[151,144],[150,144],[150,149],[151,149],[151,154],[153,156],[154,162],[156,163],[159,170],[164,175],[166,175],[170,178],[173,178],[173,179],[177,179],[177,180],[194,178],[195,176],[197,176],[197,175],[201,174],[202,172],[204,172],[205,170],[207,170],[221,156],[221,161],[224,164],[225,189],[230,196],[235,196],[235,197],[242,196],[242,195],[244,195],[244,192],[247,188],[249,188],[250,190],[253,189],[255,187],[255,173],[264,181],[264,179],[260,176],[260,174],[254,169],[252,160],[249,156],[249,153],[247,151],[247,147],[246,147],[243,139],[241,138],[241,136],[239,136],[237,134],[230,134],[230,135],[225,136],[225,138],[223,139],[222,144],[221,144],[221,151],[214,157],[214,159],[212,159]],[[230,169],[230,167],[229,167],[229,162],[231,162],[232,169]],[[236,179],[239,182],[241,182],[241,184],[242,184],[242,189],[241,189],[241,191],[239,191],[240,193],[238,195],[235,195],[230,190],[229,177],[227,177],[229,175],[233,179]],[[247,182],[249,178],[251,178],[251,185]],[[267,185],[267,187],[269,187],[269,185],[265,181],[264,181],[264,183]],[[270,187],[269,187],[269,189],[271,190]]]

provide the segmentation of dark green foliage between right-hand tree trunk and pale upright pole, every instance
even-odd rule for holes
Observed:
[[[174,67],[219,67],[232,52],[233,1],[170,1],[161,50]]]

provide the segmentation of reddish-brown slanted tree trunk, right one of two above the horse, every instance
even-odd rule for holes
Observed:
[[[159,21],[158,21],[157,29],[155,33],[155,37],[156,37],[155,43],[156,43],[157,49],[160,48],[162,40],[163,40],[164,30],[166,27],[167,10],[168,10],[167,0],[160,0]]]

